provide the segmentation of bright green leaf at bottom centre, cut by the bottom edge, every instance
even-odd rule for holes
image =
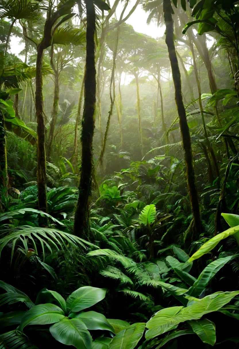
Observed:
[[[110,342],[109,349],[133,349],[142,338],[145,329],[144,322],[133,324],[119,332]]]

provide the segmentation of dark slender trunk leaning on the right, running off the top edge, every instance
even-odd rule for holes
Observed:
[[[169,60],[172,68],[173,82],[175,88],[175,102],[179,114],[179,124],[182,135],[182,144],[184,149],[184,159],[186,165],[186,177],[188,183],[188,192],[191,202],[191,207],[194,217],[194,230],[196,238],[199,237],[202,232],[201,215],[198,202],[197,188],[195,183],[195,174],[193,167],[193,156],[191,150],[191,138],[189,133],[189,127],[187,124],[186,111],[183,105],[182,99],[182,86],[181,76],[179,70],[179,64],[176,56],[174,38],[173,38],[173,18],[172,18],[172,6],[171,0],[164,0],[164,21],[166,25],[166,45],[168,47]]]

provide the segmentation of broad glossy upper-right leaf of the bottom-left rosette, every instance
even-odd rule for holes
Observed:
[[[67,298],[66,306],[70,308],[71,311],[78,312],[100,302],[105,296],[105,288],[91,286],[80,287]]]

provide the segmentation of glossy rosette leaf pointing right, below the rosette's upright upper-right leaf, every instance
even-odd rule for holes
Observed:
[[[103,314],[97,313],[95,311],[82,312],[75,314],[74,316],[71,316],[70,314],[69,317],[72,317],[74,319],[81,319],[86,325],[87,329],[101,329],[102,331],[106,330],[115,333],[114,328],[110,325],[106,317]]]

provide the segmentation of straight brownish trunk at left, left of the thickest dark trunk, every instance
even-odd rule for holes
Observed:
[[[37,119],[37,189],[38,208],[47,211],[46,200],[46,155],[45,155],[45,126],[43,118],[43,96],[42,96],[42,59],[43,45],[37,48],[36,59],[36,119]]]

